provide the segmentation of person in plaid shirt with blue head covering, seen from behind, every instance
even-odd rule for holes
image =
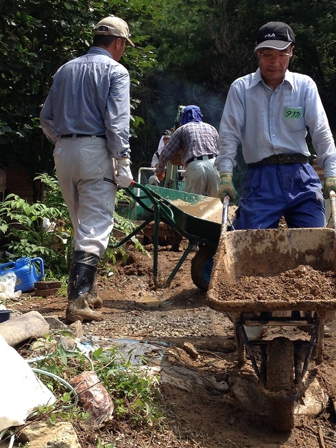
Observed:
[[[163,148],[156,167],[156,176],[162,180],[165,165],[173,156],[180,154],[184,174],[184,191],[217,198],[220,182],[219,172],[214,167],[219,154],[218,132],[202,121],[203,115],[198,106],[186,106],[182,110],[180,127]]]

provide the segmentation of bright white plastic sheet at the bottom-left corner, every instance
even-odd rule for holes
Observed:
[[[29,364],[0,336],[0,432],[23,425],[38,406],[51,405],[56,398],[36,377]]]

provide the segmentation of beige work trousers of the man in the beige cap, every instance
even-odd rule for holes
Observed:
[[[117,192],[107,141],[100,137],[62,138],[53,157],[73,225],[73,248],[101,258],[113,228]]]

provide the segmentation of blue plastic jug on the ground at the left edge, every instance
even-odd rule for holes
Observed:
[[[40,273],[36,272],[36,266]],[[16,275],[16,285],[14,292],[21,290],[22,292],[34,290],[34,283],[40,281],[45,275],[43,259],[40,257],[30,258],[23,257],[16,261],[9,261],[0,265],[0,275],[6,272],[14,272]]]

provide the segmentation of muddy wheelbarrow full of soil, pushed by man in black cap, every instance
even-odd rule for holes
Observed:
[[[309,362],[314,357],[316,364],[322,362],[324,324],[332,320],[336,309],[335,193],[331,194],[334,228],[228,232],[228,200],[227,196],[208,305],[232,321],[237,368],[243,366],[247,353],[267,397],[270,425],[289,431],[294,403],[304,397]],[[320,287],[309,283],[312,273],[321,279]],[[296,326],[309,330],[311,337],[252,341],[245,326]]]

